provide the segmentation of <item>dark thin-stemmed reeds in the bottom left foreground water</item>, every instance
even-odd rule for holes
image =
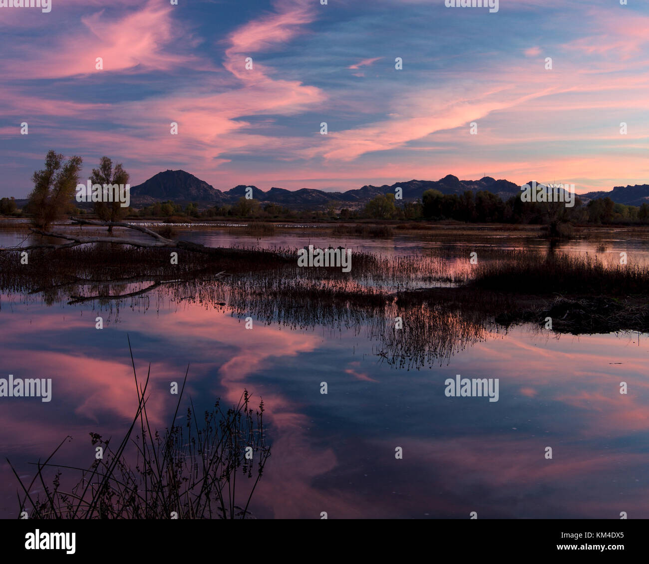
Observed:
[[[50,462],[67,437],[44,463],[36,464],[30,484],[12,466],[22,489],[19,513],[27,511],[30,519],[254,518],[249,504],[271,454],[263,401],[252,410],[251,396],[244,390],[236,406],[224,411],[217,401],[199,421],[190,400],[184,423],[177,424],[186,373],[171,424],[161,435],[152,432],[147,415],[150,373],[149,365],[141,384],[133,362],[136,414],[119,445],[90,434],[93,447],[103,448],[103,458],[90,468]],[[252,448],[252,460],[245,457],[247,447]],[[56,472],[48,485],[45,474],[52,469]],[[69,491],[61,484],[62,469],[80,474]],[[42,486],[43,497],[32,498],[34,484]]]

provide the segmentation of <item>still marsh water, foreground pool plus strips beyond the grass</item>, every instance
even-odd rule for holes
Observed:
[[[496,229],[345,241],[317,228],[262,239],[233,230],[179,236],[383,254],[451,242],[478,253],[484,245],[546,244],[533,232]],[[0,246],[23,238],[2,232]],[[649,255],[643,234],[615,230],[565,250],[625,251],[638,262]],[[5,458],[31,477],[29,463],[45,460],[66,435],[73,440],[55,461],[83,467],[95,453],[90,432],[121,439],[137,406],[128,334],[138,374],[151,363],[149,417],[160,430],[175,408],[169,383],[182,382],[188,363],[186,394],[199,412],[219,397],[236,403],[244,388],[263,397],[272,455],[251,502],[258,518],[649,518],[648,335],[559,337],[523,325],[487,330],[438,363],[401,369],[384,362],[362,323],[300,328],[253,317],[246,329],[244,318],[164,289],[119,307],[2,295],[0,377],[52,378],[53,393],[51,402],[0,399],[0,517],[18,516],[18,481]],[[456,374],[498,378],[498,401],[446,397],[445,380]],[[42,493],[40,484],[32,492]]]

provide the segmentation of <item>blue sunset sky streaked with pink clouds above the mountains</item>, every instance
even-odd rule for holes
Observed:
[[[0,197],[49,149],[131,186],[649,183],[644,0],[171,1],[0,0]]]

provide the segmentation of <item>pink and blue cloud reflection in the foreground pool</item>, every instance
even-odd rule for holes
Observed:
[[[649,517],[646,336],[499,330],[484,311],[506,303],[478,311],[461,307],[461,294],[418,300],[417,284],[402,292],[389,271],[350,286],[332,273],[317,291],[286,291],[313,275],[304,276],[186,281],[77,304],[67,302],[79,281],[32,294],[5,286],[3,373],[53,378],[53,400],[0,400],[2,460],[31,474],[28,462],[69,434],[60,461],[81,465],[93,456],[89,432],[123,434],[137,404],[129,334],[138,371],[151,362],[153,426],[164,427],[169,383],[188,362],[199,411],[217,397],[236,402],[243,387],[263,397],[273,456],[252,501],[257,517]],[[84,291],[148,282],[102,284]],[[377,299],[378,287],[392,299]],[[499,401],[445,397],[456,374],[499,378]],[[4,462],[0,480],[0,515],[16,517]]]

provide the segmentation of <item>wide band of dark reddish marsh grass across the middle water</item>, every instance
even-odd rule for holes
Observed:
[[[96,302],[109,309],[108,319],[121,305],[147,310],[149,299],[157,297],[158,310],[170,303],[199,304],[239,319],[251,315],[266,325],[365,332],[384,361],[409,369],[448,362],[454,352],[502,326],[541,323],[555,306],[568,308],[555,332],[649,328],[649,271],[643,265],[616,264],[615,254],[600,260],[490,246],[479,247],[479,263],[471,265],[470,249],[443,244],[412,256],[352,252],[349,273],[340,267],[300,268],[297,249],[291,248],[232,247],[210,256],[181,250],[178,265],[171,265],[165,249],[125,252],[95,245],[32,251],[29,265],[20,267],[12,251],[0,254],[0,288],[21,299],[42,295],[48,302],[82,293],[93,307]],[[214,280],[219,271],[227,276]],[[169,284],[145,287],[151,290],[147,295],[115,295],[172,277]],[[107,299],[109,292],[113,296]],[[578,306],[579,300],[600,295],[618,299],[620,307],[607,306],[600,315],[593,305],[600,302]],[[552,301],[557,296],[572,301],[557,305]],[[408,320],[399,332],[395,317]]]

